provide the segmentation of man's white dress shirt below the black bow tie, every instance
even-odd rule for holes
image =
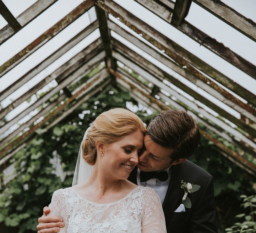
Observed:
[[[171,179],[171,173],[172,173],[172,169],[170,169],[170,167],[161,170],[161,171],[167,171],[168,172],[168,179],[166,181],[160,181],[157,178],[153,178],[153,179],[149,179],[147,181],[144,182],[140,182],[140,169],[138,168],[137,170],[137,184],[143,187],[150,187],[153,188],[156,193],[159,195],[160,199],[161,199],[161,203],[163,204],[164,202],[164,198],[168,189],[168,185]],[[157,171],[160,172],[160,171]]]

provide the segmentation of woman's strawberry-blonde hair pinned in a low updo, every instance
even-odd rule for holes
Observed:
[[[115,108],[100,114],[93,121],[83,141],[83,159],[89,165],[94,165],[97,157],[96,141],[100,144],[110,144],[137,130],[146,133],[142,120],[129,110]]]

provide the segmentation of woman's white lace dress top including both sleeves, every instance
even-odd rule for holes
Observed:
[[[137,186],[127,196],[109,204],[81,197],[73,188],[53,193],[48,216],[63,219],[63,232],[166,232],[161,200],[149,187]]]

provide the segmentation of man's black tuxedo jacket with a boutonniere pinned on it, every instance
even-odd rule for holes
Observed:
[[[201,167],[186,160],[174,165],[170,183],[163,202],[167,232],[173,233],[213,233],[215,227],[215,204],[213,178]],[[137,167],[133,169],[128,180],[137,184]],[[180,188],[181,180],[201,187],[193,194],[188,194],[191,208],[185,212],[174,211],[182,203],[184,190]]]

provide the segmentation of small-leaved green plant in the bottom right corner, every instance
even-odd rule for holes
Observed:
[[[250,212],[237,214],[235,217],[244,219],[243,222],[236,222],[233,226],[226,228],[227,233],[235,232],[256,232],[256,195],[246,196],[241,195],[243,198],[242,206],[244,209],[249,208]]]

